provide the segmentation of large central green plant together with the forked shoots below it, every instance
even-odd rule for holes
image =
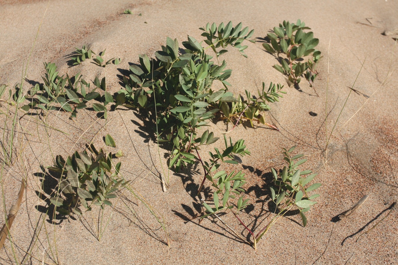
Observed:
[[[254,30],[243,27],[242,23],[233,26],[232,22],[225,25],[221,23],[218,26],[215,23],[211,25],[208,23],[200,29],[203,31],[201,34],[204,37],[203,41],[199,42],[188,36],[187,41],[182,42],[183,52],[179,52],[177,39],[168,37],[166,45],[155,52],[155,58],[149,58],[145,54],[140,55],[139,64],[131,65],[129,75],[123,77],[124,87],[117,93],[116,107],[124,106],[138,110],[150,120],[154,120],[158,143],[169,147],[169,168],[178,171],[189,164],[197,162],[201,164],[204,172],[203,181],[197,195],[202,197],[201,192],[206,180],[214,189],[214,193],[211,203],[207,201],[209,198],[201,199],[205,213],[200,220],[209,216],[220,219],[220,212],[230,211],[238,223],[252,235],[251,242],[220,220],[240,240],[252,244],[256,249],[261,236],[293,206],[301,209],[300,215],[305,226],[306,219],[303,213],[314,204],[311,201],[314,196],[308,197],[306,190],[299,190],[310,181],[311,177],[307,177],[306,183],[297,186],[298,174],[305,175],[308,171],[300,173],[300,170],[297,170],[298,164],[290,164],[289,170],[284,169],[282,180],[278,177],[275,179],[275,187],[280,188],[271,190],[273,201],[277,205],[284,203],[279,213],[257,236],[242,222],[239,214],[249,204],[243,189],[244,173],[242,171],[228,173],[220,167],[224,163],[238,164],[237,157],[250,155],[250,151],[244,139],[233,141],[224,134],[225,148],[222,150],[214,148],[214,151],[206,155],[206,160],[205,154],[201,152],[201,146],[211,145],[219,140],[219,137],[215,137],[214,132],[209,130],[203,131],[203,127],[208,126],[209,120],[215,118],[217,114],[218,118],[232,122],[233,128],[243,120],[248,120],[252,126],[257,122],[277,130],[275,126],[265,123],[262,112],[269,110],[269,104],[279,101],[285,92],[282,91],[282,85],[273,83],[269,86],[263,83],[258,95],[252,95],[250,91],[245,91],[243,95],[234,95],[228,91],[231,84],[227,79],[231,76],[232,70],[226,68],[225,60],[220,61],[219,56],[228,52],[227,48],[232,46],[238,50],[237,54],[247,57],[244,51],[248,46],[245,44],[255,43],[252,38]],[[222,88],[213,89],[214,81],[220,82]],[[293,149],[289,150],[291,151]],[[291,160],[294,159],[295,157]],[[309,188],[311,189],[313,188]]]

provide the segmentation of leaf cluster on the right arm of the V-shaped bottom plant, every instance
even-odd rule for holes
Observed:
[[[319,196],[319,194],[310,195],[309,192],[316,190],[321,184],[314,183],[307,186],[315,178],[317,173],[312,173],[311,170],[300,170],[300,168],[298,168],[298,166],[306,162],[307,159],[300,159],[304,156],[302,154],[291,157],[290,153],[292,153],[295,148],[296,147],[293,146],[289,150],[283,149],[284,159],[289,165],[285,166],[279,174],[272,168],[274,186],[270,187],[271,199],[281,212],[295,206],[300,212],[303,226],[306,226],[307,218],[304,213],[308,211],[312,205],[316,204],[316,201],[313,201],[313,199]]]

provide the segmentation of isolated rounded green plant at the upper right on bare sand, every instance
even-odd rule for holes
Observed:
[[[312,87],[318,75],[316,64],[321,58],[321,52],[315,49],[319,40],[314,38],[312,31],[305,33],[306,29],[310,28],[305,27],[305,23],[300,19],[296,24],[283,21],[279,27],[273,28],[273,33],[267,34],[268,43],[263,43],[263,47],[271,54],[277,54],[275,57],[281,65],[275,64],[273,67],[286,75],[289,81],[297,86],[300,77],[305,77]],[[279,57],[280,54],[285,54],[286,58]],[[312,58],[305,61],[303,57],[306,56]]]

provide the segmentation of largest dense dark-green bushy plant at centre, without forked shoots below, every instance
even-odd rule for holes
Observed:
[[[169,167],[176,167],[195,163],[197,157],[191,154],[197,150],[197,143],[204,138],[197,136],[197,131],[207,125],[207,120],[215,117],[221,110],[225,119],[236,119],[236,124],[242,117],[258,122],[264,122],[261,110],[269,109],[266,102],[277,101],[281,97],[280,85],[271,84],[268,91],[259,92],[259,98],[253,97],[246,91],[247,99],[236,99],[228,91],[230,83],[226,81],[232,70],[226,69],[226,62],[215,64],[212,56],[206,54],[211,48],[217,58],[227,50],[217,50],[219,47],[234,46],[244,54],[247,46],[242,42],[251,40],[254,31],[248,27],[242,29],[242,23],[235,27],[232,22],[208,23],[202,34],[207,39],[204,41],[209,46],[203,48],[193,37],[188,36],[188,41],[182,44],[185,47],[183,54],[178,54],[178,41],[169,37],[166,46],[155,52],[156,59],[147,55],[139,57],[140,66],[130,66],[131,74],[123,77],[125,88],[121,89],[116,97],[116,106],[123,105],[128,108],[140,108],[156,115],[159,142],[169,142],[173,146]],[[213,91],[213,81],[220,81],[224,86],[219,91]],[[235,124],[235,126],[236,126]],[[212,137],[213,133],[208,133]],[[214,143],[218,138],[207,140],[207,144]]]

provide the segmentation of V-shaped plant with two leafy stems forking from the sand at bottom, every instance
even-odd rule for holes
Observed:
[[[243,146],[241,146],[241,148],[245,149]],[[248,244],[252,244],[254,249],[257,248],[257,243],[261,237],[273,226],[273,224],[275,224],[275,222],[277,222],[281,217],[283,217],[283,215],[290,211],[292,207],[298,208],[303,221],[303,226],[306,226],[307,219],[304,215],[304,212],[308,211],[310,207],[316,203],[312,200],[319,196],[319,194],[310,196],[308,193],[319,188],[321,184],[315,183],[308,188],[304,188],[304,186],[314,179],[316,174],[310,174],[312,173],[311,170],[300,171],[298,166],[306,162],[306,159],[302,159],[295,163],[294,161],[303,155],[295,155],[294,157],[290,157],[289,153],[293,152],[294,149],[295,147],[292,147],[289,149],[289,151],[283,149],[283,154],[285,155],[284,159],[289,163],[289,166],[285,166],[279,176],[272,168],[272,174],[275,178],[275,186],[270,188],[271,199],[276,203],[278,211],[271,221],[265,225],[256,235],[254,234],[254,231],[248,228],[248,226],[244,224],[242,219],[239,217],[239,215],[242,213],[242,210],[249,205],[248,202],[250,200],[244,199],[244,189],[242,186],[245,183],[245,178],[241,171],[238,173],[233,171],[230,174],[227,174],[225,171],[219,171],[214,174],[214,176],[211,176],[211,174],[207,175],[207,178],[213,183],[212,186],[216,188],[216,191],[213,193],[214,207],[211,207],[209,204],[203,202],[203,206],[205,207],[207,213],[201,216],[201,219],[210,215],[214,215],[238,238]],[[304,175],[307,174],[310,175],[304,177]],[[238,199],[236,199],[236,195],[239,196]],[[232,200],[234,202],[231,202]],[[227,210],[229,210],[236,217],[238,222],[248,231],[250,237],[252,238],[252,243],[244,239],[238,232],[236,232],[220,218],[219,214],[225,213]]]

